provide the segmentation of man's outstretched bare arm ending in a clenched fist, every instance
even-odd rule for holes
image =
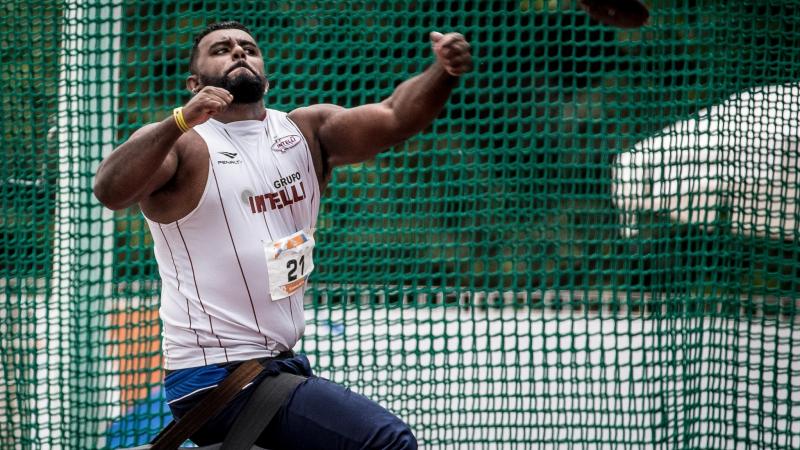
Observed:
[[[294,112],[313,117],[324,166],[370,159],[419,133],[439,115],[458,77],[472,68],[472,56],[458,33],[434,32],[430,37],[434,63],[397,86],[386,100],[350,109],[314,105]]]

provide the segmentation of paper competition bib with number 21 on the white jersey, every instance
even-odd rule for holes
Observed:
[[[308,274],[314,270],[313,252],[313,230],[300,230],[274,242],[264,242],[273,301],[286,298],[305,285]]]

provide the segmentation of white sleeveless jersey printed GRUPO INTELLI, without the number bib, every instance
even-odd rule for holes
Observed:
[[[205,190],[186,217],[147,223],[162,280],[166,369],[275,356],[303,335],[305,285],[270,296],[264,243],[313,230],[319,184],[286,113],[194,127],[208,146]]]

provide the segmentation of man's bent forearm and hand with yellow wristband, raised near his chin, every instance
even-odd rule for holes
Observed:
[[[189,127],[224,111],[233,97],[224,89],[206,87],[183,108]],[[138,129],[97,168],[94,195],[110,209],[123,209],[148,197],[178,170],[183,132],[172,116]]]

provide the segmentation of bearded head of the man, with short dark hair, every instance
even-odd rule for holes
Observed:
[[[209,33],[198,44],[197,79],[200,87],[215,86],[233,95],[233,103],[264,98],[267,77],[261,50],[252,36],[237,29]]]

